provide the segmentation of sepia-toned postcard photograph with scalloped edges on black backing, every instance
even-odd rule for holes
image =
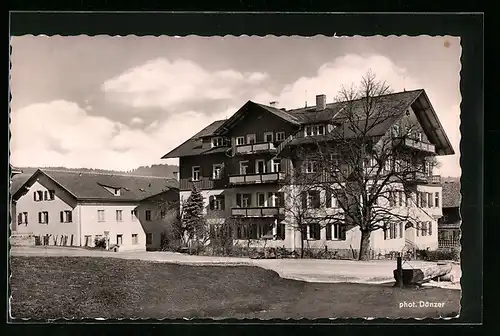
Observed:
[[[10,44],[14,321],[460,316],[460,37]]]

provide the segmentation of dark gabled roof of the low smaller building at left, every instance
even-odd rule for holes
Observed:
[[[26,190],[25,187],[31,186],[40,175],[45,175],[80,201],[141,201],[167,190],[177,189],[178,184],[176,180],[165,177],[38,169],[22,186],[12,189],[13,199],[18,199]],[[103,186],[119,188],[120,195],[113,195]]]

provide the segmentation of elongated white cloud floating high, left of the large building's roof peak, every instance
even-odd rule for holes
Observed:
[[[261,72],[211,72],[189,60],[158,58],[105,81],[101,89],[113,102],[168,110],[196,102],[231,100],[267,78]]]

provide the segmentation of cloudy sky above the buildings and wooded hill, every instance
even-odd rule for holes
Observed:
[[[11,38],[11,163],[130,170],[161,157],[248,100],[333,102],[371,70],[394,91],[425,89],[460,176],[458,37]]]

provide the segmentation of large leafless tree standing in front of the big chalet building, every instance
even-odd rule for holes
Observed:
[[[323,220],[359,227],[360,260],[369,259],[373,231],[418,229],[420,205],[427,202],[416,184],[430,178],[436,160],[409,111],[411,99],[392,94],[368,72],[359,87],[342,87],[328,129],[299,139],[294,149],[296,161],[306,165],[296,180],[312,179],[307,188],[321,188],[341,210],[323,214]],[[307,176],[307,169],[318,173]]]

